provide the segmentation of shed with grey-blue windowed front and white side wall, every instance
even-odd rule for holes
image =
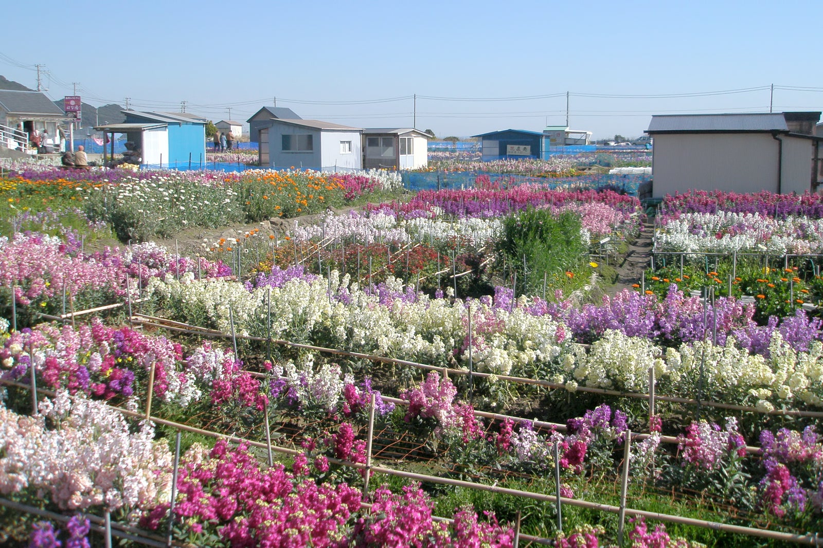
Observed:
[[[360,169],[362,128],[320,120],[271,118],[259,129],[260,165],[312,170]]]

